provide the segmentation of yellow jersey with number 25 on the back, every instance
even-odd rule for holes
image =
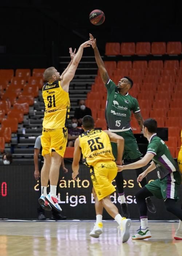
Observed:
[[[109,136],[102,130],[90,130],[79,136],[84,163],[94,166],[98,161],[114,161]]]

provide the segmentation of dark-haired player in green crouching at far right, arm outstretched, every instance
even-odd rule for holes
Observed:
[[[118,166],[120,170],[135,169],[147,165],[151,160],[151,165],[141,173],[137,181],[140,182],[146,175],[157,169],[158,179],[145,185],[135,195],[137,206],[140,212],[141,226],[138,233],[132,239],[145,239],[151,237],[148,228],[147,206],[145,198],[155,196],[165,201],[166,210],[179,218],[179,226],[174,238],[182,240],[182,210],[176,206],[175,202],[179,199],[178,188],[181,185],[181,175],[177,162],[174,161],[166,144],[156,134],[157,121],[152,118],[143,123],[143,135],[149,140],[146,155],[135,163],[125,166]]]

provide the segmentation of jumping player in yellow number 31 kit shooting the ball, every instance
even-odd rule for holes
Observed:
[[[67,144],[67,120],[70,114],[69,85],[74,78],[76,68],[82,58],[83,49],[91,45],[92,40],[80,45],[78,52],[72,53],[70,48],[71,62],[60,76],[54,68],[47,68],[44,79],[47,81],[43,86],[43,99],[45,113],[43,131],[41,136],[42,155],[44,165],[41,170],[41,197],[39,203],[44,210],[62,211],[56,196],[56,187],[59,178],[59,169]],[[50,193],[47,195],[47,184],[50,180]]]

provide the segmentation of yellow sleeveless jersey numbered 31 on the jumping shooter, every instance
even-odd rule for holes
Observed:
[[[67,127],[70,117],[70,98],[62,89],[60,81],[44,84],[42,97],[45,104],[43,127],[46,129]]]

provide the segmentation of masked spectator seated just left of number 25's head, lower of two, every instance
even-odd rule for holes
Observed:
[[[75,117],[71,120],[72,128],[68,128],[68,147],[74,147],[75,140],[82,133],[81,129],[78,129],[78,121]]]

